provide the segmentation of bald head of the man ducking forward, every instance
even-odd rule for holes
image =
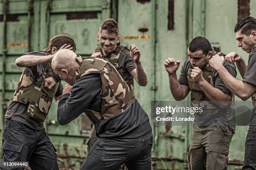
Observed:
[[[71,50],[59,50],[51,60],[51,67],[54,71],[61,70],[63,68],[67,70],[76,70],[77,68],[73,68],[76,63],[76,57],[77,55]]]

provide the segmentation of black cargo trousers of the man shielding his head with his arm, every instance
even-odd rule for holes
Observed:
[[[32,170],[59,170],[55,152],[45,129],[33,130],[21,122],[5,119],[3,161],[28,161]]]

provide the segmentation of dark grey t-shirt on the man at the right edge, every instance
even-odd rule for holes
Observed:
[[[248,82],[256,86],[256,47],[254,47],[249,55],[248,65],[243,76],[243,82]],[[253,107],[251,125],[256,125],[256,105]]]

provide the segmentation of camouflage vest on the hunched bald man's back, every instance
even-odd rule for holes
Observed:
[[[80,64],[74,81],[90,73],[100,73],[102,81],[101,113],[86,110],[85,114],[95,125],[101,119],[108,119],[126,110],[135,100],[133,92],[110,62],[100,58],[76,58]],[[73,82],[74,82],[73,81]]]

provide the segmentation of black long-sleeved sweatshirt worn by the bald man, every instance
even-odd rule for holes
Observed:
[[[102,82],[99,73],[91,73],[74,82],[70,94],[59,101],[57,118],[61,125],[77,118],[85,109],[101,112]],[[100,138],[139,138],[152,130],[148,115],[135,100],[125,111],[97,123]]]

